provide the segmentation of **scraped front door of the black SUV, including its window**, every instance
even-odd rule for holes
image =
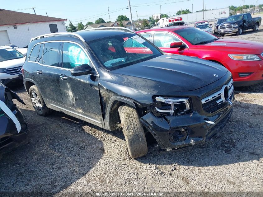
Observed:
[[[99,76],[80,45],[63,42],[61,45],[62,65],[59,69],[59,86],[68,115],[101,125],[102,113],[99,96]],[[73,76],[71,69],[82,64],[92,67],[92,74]]]

